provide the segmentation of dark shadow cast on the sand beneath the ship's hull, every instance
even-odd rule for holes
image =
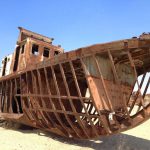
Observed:
[[[101,137],[95,140],[78,140],[68,139],[57,136],[52,133],[43,132],[40,130],[19,130],[25,134],[35,133],[39,136],[46,136],[60,143],[69,145],[77,145],[84,148],[94,150],[150,150],[150,141],[142,138],[134,137],[127,134],[117,134],[108,137]]]

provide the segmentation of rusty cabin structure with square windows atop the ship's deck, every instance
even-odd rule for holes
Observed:
[[[53,38],[28,31],[19,27],[20,34],[13,54],[2,60],[0,76],[6,76],[29,68],[50,59],[64,50],[52,45]]]

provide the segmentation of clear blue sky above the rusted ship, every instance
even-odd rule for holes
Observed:
[[[0,59],[22,26],[54,37],[65,51],[150,31],[149,0],[1,0]]]

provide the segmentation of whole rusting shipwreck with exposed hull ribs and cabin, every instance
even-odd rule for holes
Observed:
[[[15,52],[2,62],[0,117],[79,139],[150,117],[149,34],[64,53],[52,38],[19,29]]]

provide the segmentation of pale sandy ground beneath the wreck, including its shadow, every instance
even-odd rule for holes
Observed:
[[[150,150],[150,120],[127,132],[97,140],[73,140],[40,130],[0,127],[0,150]]]

